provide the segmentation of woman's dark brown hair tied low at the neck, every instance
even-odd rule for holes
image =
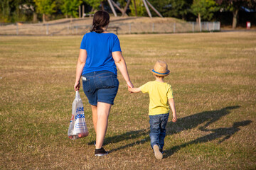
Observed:
[[[102,33],[104,30],[102,27],[107,26],[110,23],[110,14],[106,11],[97,11],[93,16],[92,29],[90,32]]]

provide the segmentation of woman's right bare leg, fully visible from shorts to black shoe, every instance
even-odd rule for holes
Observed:
[[[111,104],[97,103],[97,133],[96,133],[96,149],[100,149],[103,145],[107,132],[108,116],[110,115]]]

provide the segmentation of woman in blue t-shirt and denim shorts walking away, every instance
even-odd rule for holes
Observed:
[[[92,108],[92,121],[96,132],[95,156],[107,155],[102,147],[107,131],[110,108],[114,104],[119,81],[117,67],[127,86],[133,87],[122,57],[117,35],[107,32],[110,15],[97,11],[93,17],[92,30],[82,38],[76,69],[75,91],[82,87]]]

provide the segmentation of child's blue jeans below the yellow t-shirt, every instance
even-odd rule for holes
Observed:
[[[169,113],[161,115],[149,115],[150,124],[150,145],[158,145],[159,149],[164,147],[164,137],[166,136],[166,124],[169,118]]]

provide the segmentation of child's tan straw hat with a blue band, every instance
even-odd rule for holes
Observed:
[[[154,65],[154,69],[150,69],[150,71],[159,77],[166,77],[170,74],[170,70],[168,69],[168,65],[164,61],[157,60]]]

